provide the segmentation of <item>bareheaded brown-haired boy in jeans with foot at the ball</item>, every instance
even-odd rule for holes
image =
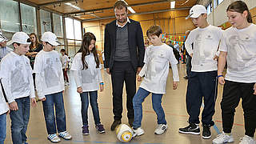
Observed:
[[[137,93],[134,95],[134,134],[144,134],[141,128],[142,102],[152,93],[152,105],[158,115],[158,126],[154,134],[163,134],[167,130],[167,123],[164,110],[162,109],[162,95],[166,94],[166,81],[169,73],[169,62],[173,71],[173,89],[178,86],[178,61],[174,57],[173,50],[161,41],[162,29],[160,26],[150,26],[146,31],[152,45],[146,48],[144,63],[141,72],[138,74],[138,82],[142,81]]]

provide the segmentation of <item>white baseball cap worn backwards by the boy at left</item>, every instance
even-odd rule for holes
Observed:
[[[13,37],[11,38],[11,40],[9,42],[6,43],[6,45],[11,45],[14,42],[20,43],[20,44],[27,44],[30,45],[31,41],[30,41],[30,37],[29,35],[27,35],[24,32],[16,32]]]

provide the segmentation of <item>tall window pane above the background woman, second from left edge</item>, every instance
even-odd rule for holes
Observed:
[[[22,31],[26,32],[27,34],[37,34],[37,17],[35,14],[35,8],[21,3],[21,13]]]

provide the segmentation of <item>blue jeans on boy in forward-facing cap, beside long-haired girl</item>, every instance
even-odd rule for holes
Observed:
[[[43,113],[45,114],[46,129],[48,134],[56,134],[66,131],[66,114],[64,109],[62,92],[46,95],[46,101],[42,102]],[[54,114],[55,106],[55,114]],[[56,130],[56,122],[57,130]]]

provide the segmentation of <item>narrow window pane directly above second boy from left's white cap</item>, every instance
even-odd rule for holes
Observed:
[[[51,30],[50,12],[46,10],[40,10],[40,23],[42,34]]]

